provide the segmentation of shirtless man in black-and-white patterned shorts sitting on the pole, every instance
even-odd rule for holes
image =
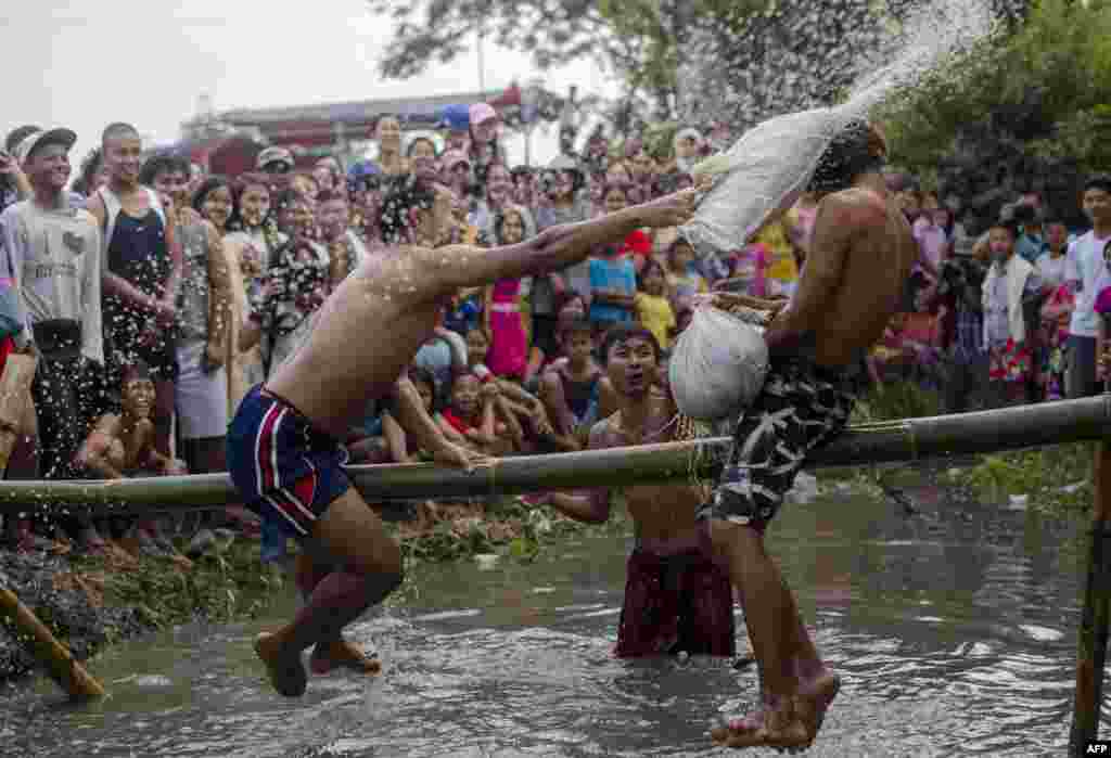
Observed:
[[[700,514],[711,519],[714,552],[740,590],[763,690],[760,710],[713,731],[729,747],[809,746],[840,686],[763,534],[807,454],[845,427],[860,360],[899,307],[918,257],[880,172],[885,153],[883,137],[858,120],[822,154],[809,188],[822,200],[805,270],[764,333],[767,383],[741,416],[729,465]]]

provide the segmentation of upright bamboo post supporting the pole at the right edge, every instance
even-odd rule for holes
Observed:
[[[1072,709],[1070,749],[1084,755],[1090,740],[1099,736],[1103,705],[1103,670],[1108,651],[1109,600],[1111,600],[1111,439],[1095,451],[1095,496],[1092,502],[1092,533],[1084,607],[1080,616],[1077,651],[1077,693]]]

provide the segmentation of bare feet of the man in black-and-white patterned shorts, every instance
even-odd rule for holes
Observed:
[[[841,680],[823,674],[799,687],[791,698],[778,706],[734,719],[710,732],[717,745],[730,748],[770,747],[790,751],[810,747],[825,719]]]

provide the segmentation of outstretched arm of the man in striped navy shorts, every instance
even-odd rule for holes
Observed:
[[[547,274],[585,260],[594,245],[620,242],[635,229],[687,223],[694,214],[697,198],[695,190],[684,190],[591,221],[552,226],[516,245],[423,250],[420,264],[440,292]]]

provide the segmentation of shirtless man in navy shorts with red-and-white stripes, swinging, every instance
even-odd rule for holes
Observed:
[[[464,287],[578,263],[595,244],[623,240],[634,229],[685,223],[693,209],[694,194],[679,193],[553,226],[517,245],[433,250],[450,223],[450,195],[420,185],[392,191],[381,223],[394,246],[371,254],[337,287],[303,347],[248,393],[228,435],[229,472],[248,507],[283,525],[313,562],[341,567],[319,572],[297,616],[254,643],[279,693],[304,693],[300,655],[309,646],[317,646],[317,671],[357,657],[340,636],[343,627],[401,583],[401,550],[351,487],[338,441],[372,400],[391,395],[403,426],[428,429],[432,422],[403,372],[444,304]],[[473,465],[467,453],[433,435],[427,431],[421,443],[434,443],[430,447],[441,461]]]

